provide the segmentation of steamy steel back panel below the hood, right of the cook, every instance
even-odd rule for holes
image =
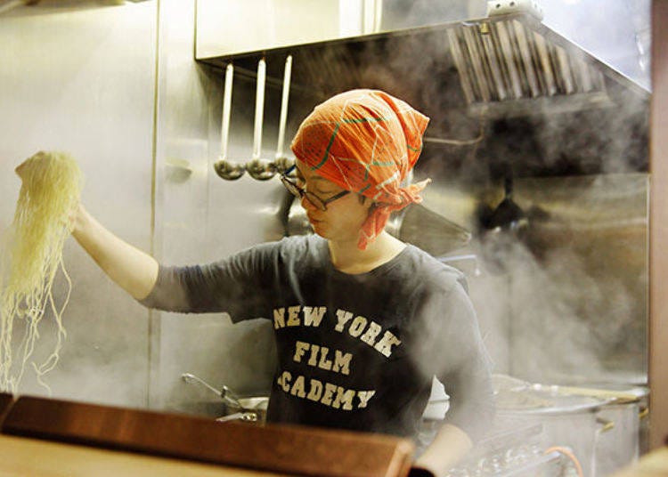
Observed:
[[[425,206],[476,232],[449,264],[467,274],[498,372],[548,383],[644,382],[647,174],[518,178],[513,198],[529,226],[502,247],[477,224],[477,206],[498,204],[501,190],[432,179]],[[468,255],[475,258],[456,260]]]

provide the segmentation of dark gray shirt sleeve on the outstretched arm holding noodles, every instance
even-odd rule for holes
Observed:
[[[151,293],[140,303],[164,311],[226,311],[232,321],[263,317],[275,276],[278,243],[250,247],[205,265],[160,265]]]

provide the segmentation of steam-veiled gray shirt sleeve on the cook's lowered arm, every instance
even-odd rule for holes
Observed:
[[[492,361],[464,284],[455,281],[446,291],[425,297],[421,318],[426,323],[420,333],[422,363],[428,363],[450,396],[445,423],[476,442],[493,422]]]

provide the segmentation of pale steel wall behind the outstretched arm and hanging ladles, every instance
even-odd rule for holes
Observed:
[[[0,228],[9,227],[20,189],[13,168],[37,150],[57,149],[86,174],[90,212],[162,263],[212,261],[279,238],[278,180],[224,182],[213,171],[223,81],[193,60],[195,2],[105,5],[45,2],[0,16],[0,43],[8,45],[0,52]],[[269,87],[267,103],[279,96]],[[237,77],[233,159],[250,157],[254,98],[255,82]],[[277,114],[267,107],[267,158]],[[73,291],[68,339],[47,376],[53,396],[193,410],[192,401],[211,395],[184,384],[184,372],[240,392],[267,389],[273,341],[265,323],[232,327],[224,314],[147,311],[74,239],[65,263]],[[37,356],[48,355],[52,337],[42,331]],[[20,392],[46,390],[28,374]]]

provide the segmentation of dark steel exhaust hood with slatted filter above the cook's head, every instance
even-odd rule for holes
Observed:
[[[232,64],[250,109],[264,60],[272,124],[289,56],[288,132],[333,94],[378,88],[431,118],[420,170],[444,181],[648,171],[648,90],[529,13],[198,61]]]

